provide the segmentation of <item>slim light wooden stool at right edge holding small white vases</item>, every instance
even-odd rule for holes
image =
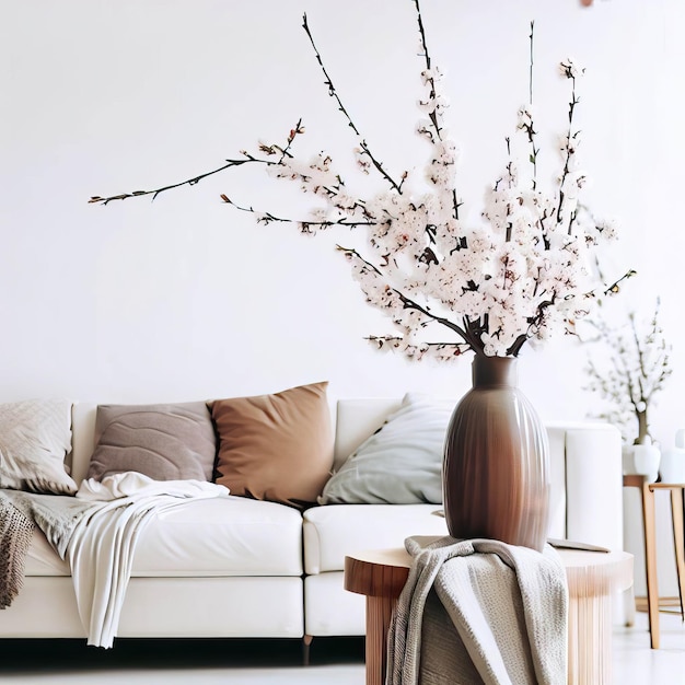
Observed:
[[[642,529],[645,537],[645,570],[647,574],[647,613],[652,649],[659,649],[659,580],[657,574],[657,531],[654,516],[654,492],[671,492],[671,518],[673,521],[673,547],[675,550],[675,570],[677,571],[681,615],[685,596],[685,539],[683,526],[683,483],[648,483],[640,474],[623,477],[624,487],[638,488],[642,501]]]

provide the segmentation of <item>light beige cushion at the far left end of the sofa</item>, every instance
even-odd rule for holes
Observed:
[[[71,495],[65,468],[71,450],[71,405],[63,398],[0,405],[0,487]]]

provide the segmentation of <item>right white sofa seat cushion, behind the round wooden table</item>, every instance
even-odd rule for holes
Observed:
[[[345,556],[404,547],[410,535],[446,535],[439,504],[326,504],[304,512],[304,571],[341,571]]]

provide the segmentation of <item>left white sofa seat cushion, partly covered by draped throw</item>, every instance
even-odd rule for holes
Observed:
[[[244,497],[184,502],[152,518],[138,541],[132,577],[301,576],[302,514]],[[69,576],[40,531],[27,576]]]

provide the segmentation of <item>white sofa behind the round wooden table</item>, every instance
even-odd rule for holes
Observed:
[[[335,460],[375,431],[399,399],[335,407]],[[76,405],[71,475],[85,475],[95,406]],[[623,546],[618,431],[601,423],[548,426],[549,536]],[[347,553],[446,533],[438,504],[329,504],[304,513],[233,497],[176,508],[144,531],[133,559],[119,637],[304,638],[364,632],[364,597],[342,587]],[[34,534],[24,587],[0,612],[0,638],[82,638],[68,566]]]

